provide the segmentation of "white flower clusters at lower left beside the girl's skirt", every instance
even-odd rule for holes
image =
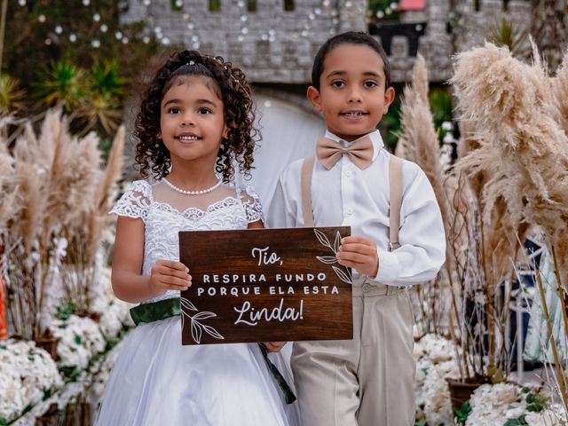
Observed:
[[[122,336],[132,326],[130,304],[108,299],[107,306],[99,323],[74,314],[54,320],[57,360],[34,341],[0,342],[0,425],[34,425],[52,404],[63,410],[88,395],[102,397]]]

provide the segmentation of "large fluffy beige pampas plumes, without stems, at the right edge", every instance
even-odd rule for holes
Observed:
[[[511,221],[542,226],[568,264],[568,138],[555,120],[560,113],[540,60],[525,64],[486,43],[458,55],[452,82],[464,117],[485,141],[487,163],[477,169],[502,176],[484,187],[485,217],[493,201],[504,200]],[[563,274],[567,280],[568,270]]]

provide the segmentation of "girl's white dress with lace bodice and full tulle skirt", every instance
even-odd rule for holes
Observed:
[[[161,184],[156,184],[161,185]],[[163,185],[163,184],[162,184]],[[179,260],[179,231],[245,229],[262,219],[251,188],[234,191],[206,209],[179,211],[154,201],[153,186],[132,183],[112,213],[145,224],[143,273],[158,259]],[[242,195],[242,196],[241,196]],[[178,297],[179,292],[146,301]],[[288,366],[270,354],[288,383]],[[179,316],[142,323],[125,338],[106,383],[98,426],[296,426],[256,343],[181,345]]]

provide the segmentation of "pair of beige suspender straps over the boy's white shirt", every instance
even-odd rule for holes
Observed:
[[[304,226],[313,227],[312,211],[312,173],[315,157],[304,158],[300,183],[302,185],[302,212]],[[402,205],[402,160],[390,155],[389,162],[390,212],[389,212],[389,251],[400,247],[398,228],[400,227],[400,207]]]

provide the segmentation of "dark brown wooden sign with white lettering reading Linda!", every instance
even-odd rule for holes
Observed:
[[[179,233],[182,344],[353,337],[349,226]]]

